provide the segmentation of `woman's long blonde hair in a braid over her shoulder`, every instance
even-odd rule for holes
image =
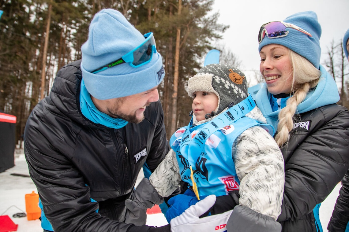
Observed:
[[[290,131],[293,129],[293,118],[297,106],[306,98],[310,88],[315,87],[320,80],[320,70],[315,68],[303,56],[289,49],[289,56],[293,68],[293,80],[291,93],[295,93],[287,100],[286,106],[280,110],[279,123],[275,141],[282,147],[290,139]]]

